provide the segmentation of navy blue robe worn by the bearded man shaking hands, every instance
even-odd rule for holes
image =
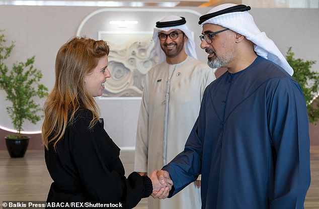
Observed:
[[[202,208],[303,208],[309,147],[299,84],[258,56],[207,86],[184,151],[163,170],[170,196],[202,174]]]

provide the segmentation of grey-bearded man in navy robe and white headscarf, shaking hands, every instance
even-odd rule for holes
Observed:
[[[157,176],[170,175],[171,197],[202,174],[202,208],[303,208],[310,184],[305,99],[248,10],[224,4],[200,17],[208,65],[227,71],[207,86],[184,151]]]

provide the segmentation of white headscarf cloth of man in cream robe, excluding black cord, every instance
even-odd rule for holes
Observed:
[[[176,20],[181,20],[182,18],[179,16],[167,16],[165,18],[163,18],[161,21],[159,22],[169,22],[169,21],[176,21]],[[172,26],[172,27],[166,27],[166,28],[154,28],[154,32],[153,32],[153,41],[154,41],[154,48],[155,48],[155,52],[158,55],[158,63],[162,63],[166,60],[166,55],[163,52],[163,50],[161,49],[161,45],[159,45],[159,38],[158,38],[158,32],[161,31],[169,31],[172,29],[178,29],[184,32],[184,34],[187,36],[187,42],[186,44],[184,44],[184,49],[185,52],[188,56],[194,57],[195,59],[197,59],[197,54],[195,51],[195,42],[192,36],[191,31],[188,29],[188,27],[186,26],[186,24],[184,25],[179,25],[179,26]]]

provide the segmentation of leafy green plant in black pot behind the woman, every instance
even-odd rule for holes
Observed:
[[[7,112],[12,120],[16,134],[6,136],[6,145],[11,157],[23,157],[29,143],[29,137],[21,135],[23,124],[30,121],[36,124],[42,117],[40,104],[34,98],[42,98],[48,93],[47,87],[39,84],[42,78],[40,70],[33,67],[34,56],[28,58],[26,62],[16,62],[11,69],[5,64],[10,56],[14,42],[6,46],[7,40],[0,30],[0,89],[6,91],[6,100],[12,102],[12,106],[7,107]]]

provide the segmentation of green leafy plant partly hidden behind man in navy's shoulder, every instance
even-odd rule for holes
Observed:
[[[315,61],[295,59],[291,47],[287,51],[286,60],[294,70],[292,77],[299,83],[303,91],[309,122],[316,124],[319,119],[319,102],[316,99],[319,93],[319,73],[310,70]]]

